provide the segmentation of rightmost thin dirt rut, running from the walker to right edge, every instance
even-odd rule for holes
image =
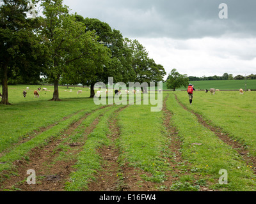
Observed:
[[[200,124],[202,124],[205,128],[211,130],[216,136],[218,136],[218,138],[220,138],[220,140],[227,143],[227,145],[232,147],[232,149],[236,150],[239,153],[239,155],[244,159],[244,161],[246,161],[248,166],[252,166],[253,173],[256,174],[256,157],[250,156],[250,150],[246,149],[244,145],[241,144],[240,142],[237,142],[236,140],[232,139],[232,137],[228,133],[225,133],[225,131],[222,128],[212,126],[209,122],[203,119],[202,115],[193,112],[193,110],[189,110],[183,103],[179,101],[176,94],[175,99],[177,103],[179,103],[179,105],[182,106],[182,108],[184,108],[184,110],[193,113]]]

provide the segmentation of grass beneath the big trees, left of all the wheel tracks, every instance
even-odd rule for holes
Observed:
[[[48,101],[51,96],[41,92],[40,99],[24,98],[21,86],[12,86],[10,91],[10,101],[13,105],[0,105],[0,152],[7,149],[13,143],[19,142],[22,138],[28,138],[33,131],[60,121],[72,113],[81,110],[92,111],[97,108],[90,98],[71,98],[77,94],[64,92],[62,101]],[[18,90],[19,89],[19,90]],[[72,95],[71,95],[72,94]],[[84,94],[85,95],[85,94]],[[73,96],[73,97],[74,97]],[[70,98],[68,98],[70,97]],[[84,97],[84,96],[83,96]]]

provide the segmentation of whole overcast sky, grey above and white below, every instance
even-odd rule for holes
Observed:
[[[136,39],[149,57],[188,76],[256,74],[255,0],[63,0]],[[221,3],[228,18],[219,17]],[[166,75],[166,77],[167,77]],[[166,77],[164,79],[166,79]]]

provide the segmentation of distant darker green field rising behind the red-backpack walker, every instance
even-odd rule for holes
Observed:
[[[218,80],[218,81],[193,81],[190,82],[195,89],[222,89],[236,90],[245,89],[245,80]],[[246,89],[256,89],[256,80],[246,80]],[[166,90],[166,83],[163,84],[163,89]],[[184,89],[181,87],[180,89]],[[177,89],[177,90],[180,90]]]

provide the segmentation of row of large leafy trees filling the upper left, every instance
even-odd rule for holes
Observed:
[[[28,4],[38,4],[42,16],[28,18]],[[62,0],[1,0],[1,104],[9,105],[8,83],[34,83],[44,77],[54,85],[52,101],[59,101],[59,84],[160,82],[166,72],[148,57],[138,40],[124,38],[106,22],[71,14]]]

